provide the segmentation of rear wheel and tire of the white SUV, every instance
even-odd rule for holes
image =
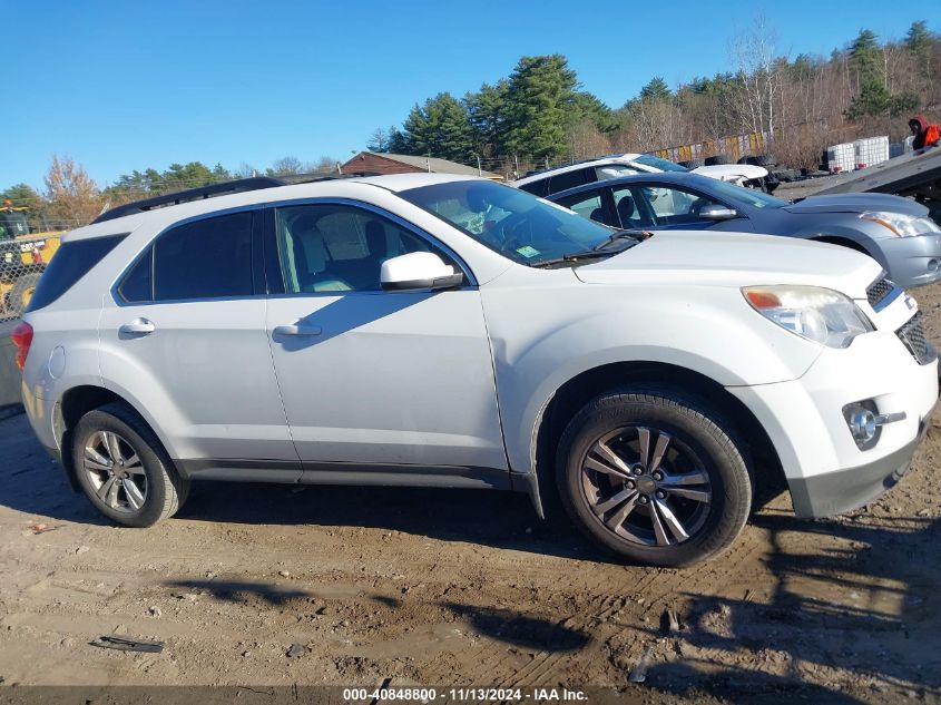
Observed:
[[[71,453],[82,491],[98,511],[117,523],[154,526],[174,516],[189,493],[189,482],[176,472],[157,435],[124,404],[86,413],[72,433]],[[139,462],[120,466],[120,460],[135,457]],[[117,471],[112,469],[119,466]]]

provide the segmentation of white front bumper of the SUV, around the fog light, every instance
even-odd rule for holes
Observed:
[[[798,380],[727,389],[774,444],[795,513],[825,517],[872,501],[904,474],[938,401],[938,369],[937,359],[919,364],[894,331],[880,330],[845,350],[825,350]],[[863,400],[879,413],[905,413],[865,451],[843,415],[846,404]]]

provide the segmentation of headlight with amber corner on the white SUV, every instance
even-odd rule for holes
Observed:
[[[792,333],[827,347],[847,347],[856,335],[874,331],[853,300],[820,286],[747,286],[752,307]]]

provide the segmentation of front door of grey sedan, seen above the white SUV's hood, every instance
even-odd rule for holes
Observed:
[[[699,217],[704,206],[718,205],[729,207],[716,198],[692,188],[678,187],[673,184],[643,184],[631,189],[637,200],[638,212],[641,209],[650,219],[653,229],[702,231],[707,228],[752,231],[747,218],[733,221],[709,221]]]

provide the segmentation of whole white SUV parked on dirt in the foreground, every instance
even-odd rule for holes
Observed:
[[[448,175],[228,188],[68,234],[13,334],[39,440],[127,526],[199,479],[508,489],[680,566],[781,480],[869,502],[938,398],[914,301],[843,247]]]

